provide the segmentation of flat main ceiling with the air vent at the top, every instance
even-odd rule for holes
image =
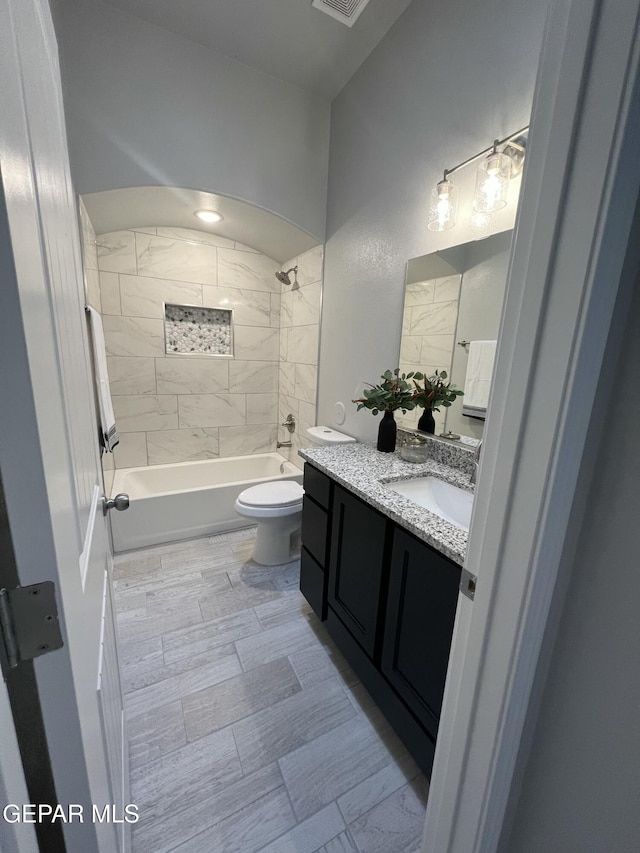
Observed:
[[[231,59],[332,100],[411,0],[370,0],[352,28],[311,0],[107,0]]]

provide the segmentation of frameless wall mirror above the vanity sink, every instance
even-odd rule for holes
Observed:
[[[498,338],[512,233],[503,231],[407,263],[401,372],[446,370],[465,390],[470,342]],[[450,431],[482,437],[484,419],[463,414],[464,400],[459,397],[449,409],[434,412],[436,435]],[[398,425],[417,429],[422,411],[398,413]]]

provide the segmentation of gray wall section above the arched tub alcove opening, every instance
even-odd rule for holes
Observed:
[[[207,190],[323,239],[328,101],[100,0],[51,5],[78,192]]]

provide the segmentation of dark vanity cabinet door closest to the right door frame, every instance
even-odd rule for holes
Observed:
[[[459,566],[395,529],[382,671],[434,739],[459,585]]]

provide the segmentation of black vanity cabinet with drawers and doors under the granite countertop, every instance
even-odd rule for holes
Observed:
[[[300,589],[429,776],[460,567],[305,465]]]

